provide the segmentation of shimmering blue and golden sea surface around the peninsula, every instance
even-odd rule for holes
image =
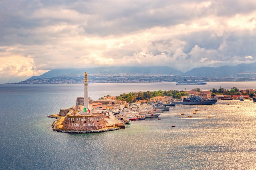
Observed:
[[[208,82],[99,83],[88,90],[96,100],[107,94],[219,86],[256,89],[255,82]],[[83,96],[83,84],[0,84],[0,169],[256,169],[252,101],[175,106],[161,120],[133,121],[111,132],[52,131],[55,119],[46,116],[75,105],[78,96]]]

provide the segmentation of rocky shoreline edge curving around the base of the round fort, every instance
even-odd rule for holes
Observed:
[[[120,129],[120,127],[114,127],[114,128],[110,128],[110,129],[102,129],[102,130],[63,130],[63,129],[59,129],[57,122],[60,119],[60,117],[58,116],[47,116],[50,118],[55,118],[56,120],[52,123],[52,130],[56,131],[56,132],[63,132],[63,133],[100,133],[100,132],[108,132],[108,131],[113,131],[113,130],[118,130]]]

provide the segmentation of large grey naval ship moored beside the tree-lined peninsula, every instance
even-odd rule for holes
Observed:
[[[201,99],[199,96],[192,96],[190,95],[189,98],[184,98],[183,101],[174,102],[175,104],[202,104],[202,105],[212,105],[217,102],[216,99]]]

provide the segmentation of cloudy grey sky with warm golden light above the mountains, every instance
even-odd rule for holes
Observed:
[[[0,82],[57,68],[254,63],[255,25],[255,0],[0,0]]]

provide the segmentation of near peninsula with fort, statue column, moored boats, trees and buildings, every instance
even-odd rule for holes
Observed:
[[[219,87],[209,91],[196,88],[185,91],[130,92],[120,96],[106,95],[98,100],[92,100],[88,97],[87,73],[84,75],[84,96],[76,99],[75,106],[60,109],[59,114],[48,116],[57,118],[52,124],[54,131],[96,133],[118,130],[125,128],[125,125],[131,124],[133,120],[161,120],[159,116],[165,111],[170,111],[175,105],[214,105],[218,100],[256,102],[256,89],[239,90],[236,87],[231,90]],[[197,110],[193,114],[197,114]]]

